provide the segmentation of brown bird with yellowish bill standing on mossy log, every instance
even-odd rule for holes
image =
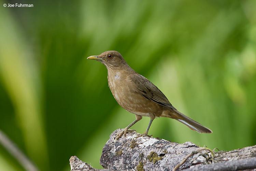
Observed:
[[[107,68],[108,84],[115,100],[122,108],[136,116],[136,120],[123,129],[115,137],[115,140],[118,140],[122,135],[125,136],[127,132],[135,131],[129,128],[141,120],[142,116],[150,117],[146,131],[140,134],[143,137],[152,136],[148,135],[148,130],[155,117],[176,119],[191,130],[199,133],[212,133],[209,128],[174,108],[162,91],[146,77],[134,71],[119,52],[106,51],[100,55],[89,56],[87,59],[100,61]]]

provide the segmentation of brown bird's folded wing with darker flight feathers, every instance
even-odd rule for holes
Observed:
[[[129,77],[136,84],[136,88],[142,96],[160,105],[175,109],[166,96],[144,76],[134,73],[130,74]]]

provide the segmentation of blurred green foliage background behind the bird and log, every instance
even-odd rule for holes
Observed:
[[[213,131],[156,118],[149,134],[219,150],[256,144],[256,1],[0,2],[0,129],[40,170],[70,170],[74,155],[102,168],[110,134],[135,119],[105,66],[86,60],[107,50]],[[132,129],[144,133],[149,120]],[[2,146],[0,166],[24,170]]]

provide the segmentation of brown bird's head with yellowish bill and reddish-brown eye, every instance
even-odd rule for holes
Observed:
[[[100,55],[89,56],[87,59],[98,60],[108,69],[128,66],[123,56],[117,51],[106,51]]]

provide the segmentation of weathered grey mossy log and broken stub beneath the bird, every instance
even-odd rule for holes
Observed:
[[[229,152],[214,152],[207,148],[199,148],[191,142],[179,144],[153,137],[136,139],[138,134],[135,132],[129,132],[115,142],[114,138],[120,131],[121,129],[115,130],[103,147],[100,164],[105,169],[166,171],[173,170],[184,159],[186,160],[178,170],[216,170],[219,168],[219,171],[231,171],[256,168],[256,145]],[[77,165],[74,167],[76,161],[80,162],[79,167]],[[81,162],[73,157],[71,163],[70,159],[71,171],[79,171],[79,168],[88,165],[84,162],[81,164]]]

